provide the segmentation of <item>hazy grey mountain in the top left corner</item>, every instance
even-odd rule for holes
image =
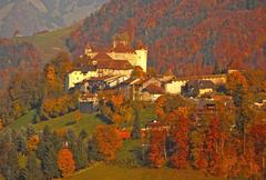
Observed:
[[[35,32],[69,26],[98,10],[108,0],[1,0],[0,36]]]

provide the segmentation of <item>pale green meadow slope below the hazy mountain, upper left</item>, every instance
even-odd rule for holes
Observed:
[[[42,60],[50,60],[58,52],[66,50],[65,38],[78,28],[78,24],[58,29],[51,32],[34,34],[30,37],[19,37],[19,42],[29,42],[37,47]]]

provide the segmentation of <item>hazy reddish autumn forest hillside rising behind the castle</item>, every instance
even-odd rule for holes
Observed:
[[[117,32],[150,50],[150,67],[178,76],[266,67],[264,0],[112,0],[71,34],[76,56],[86,42],[106,46]]]

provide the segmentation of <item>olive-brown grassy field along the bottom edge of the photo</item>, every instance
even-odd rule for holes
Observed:
[[[98,164],[68,180],[223,180],[223,178],[206,177],[194,170],[175,170],[170,168],[125,169],[115,166]]]

